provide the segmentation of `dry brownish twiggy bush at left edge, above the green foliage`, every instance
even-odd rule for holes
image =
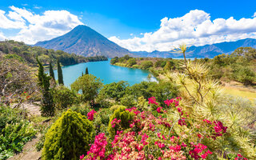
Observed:
[[[26,64],[16,59],[4,59],[0,54],[0,102],[17,102],[18,107],[24,101],[22,94],[26,96],[36,94],[38,87],[32,71]]]

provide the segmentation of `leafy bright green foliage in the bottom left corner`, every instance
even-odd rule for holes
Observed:
[[[32,123],[22,118],[20,110],[0,105],[0,159],[22,151],[36,134]]]

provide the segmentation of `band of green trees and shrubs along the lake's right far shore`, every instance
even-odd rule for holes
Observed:
[[[220,54],[211,59],[195,58],[192,61],[205,64],[210,69],[210,76],[224,82],[236,81],[244,85],[254,85],[256,82],[256,50],[251,47],[240,47],[232,54]],[[183,62],[182,59],[132,58],[128,55],[111,59],[113,65],[150,70],[156,77],[166,70],[184,70],[181,67]]]

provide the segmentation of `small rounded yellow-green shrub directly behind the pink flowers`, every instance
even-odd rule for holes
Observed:
[[[119,122],[117,125],[112,127],[113,124],[111,124],[111,122],[114,120],[114,118],[121,120],[121,122]],[[114,135],[117,133],[117,130],[126,130],[130,128],[130,121],[132,121],[133,118],[134,118],[134,114],[126,110],[125,106],[118,107],[118,109],[115,110],[114,114],[112,114],[110,117],[110,122],[108,126],[108,131],[110,133],[110,136],[114,137]]]

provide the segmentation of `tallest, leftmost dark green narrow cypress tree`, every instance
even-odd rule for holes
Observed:
[[[52,116],[54,115],[54,101],[50,94],[50,76],[44,73],[42,63],[38,58],[38,85],[42,88],[42,115]]]

